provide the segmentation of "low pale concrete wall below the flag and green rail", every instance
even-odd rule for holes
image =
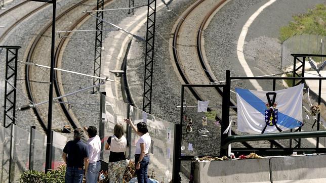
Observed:
[[[194,162],[194,182],[326,182],[326,156]]]

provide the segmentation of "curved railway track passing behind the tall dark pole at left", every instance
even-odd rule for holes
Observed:
[[[106,1],[104,4],[107,4],[110,1]],[[90,0],[84,0],[60,13],[56,17],[56,24],[60,24],[60,22],[64,22],[66,17],[79,17],[79,19],[74,21],[72,25],[67,23],[67,25],[60,27],[60,29],[73,30],[80,22],[84,21],[88,17],[88,15],[83,13],[83,11],[79,9],[79,7],[87,2],[91,3]],[[96,10],[96,6],[94,6],[93,10]],[[71,20],[69,20],[69,22],[70,21]],[[44,38],[47,37],[46,36],[47,34],[51,35],[51,26],[52,26],[52,22],[47,24],[37,34],[36,38],[34,39],[31,45],[31,48],[29,49],[27,62],[33,64],[40,64],[40,65],[49,65],[50,56],[49,54],[43,53],[42,48],[44,48],[45,45],[49,45],[49,42],[46,42]],[[63,52],[62,48],[68,34],[69,33],[66,33],[65,36],[61,37],[60,39],[56,39],[55,42],[56,44],[55,65],[56,66],[55,67],[57,67],[58,64],[61,63],[61,60],[59,59],[60,58],[59,55],[61,52]],[[46,48],[50,48],[50,47],[46,47]],[[49,59],[44,60],[39,58],[49,58]],[[34,104],[42,101],[47,101],[49,76],[46,70],[42,68],[26,65],[25,72],[26,72],[25,75],[26,88],[27,88],[29,99]],[[55,72],[54,86],[55,86],[56,93],[54,93],[54,98],[57,96],[62,96],[64,94],[61,77],[58,77],[59,74],[60,73],[58,73],[57,71]],[[48,108],[42,106],[42,107],[35,107],[33,108],[33,110],[37,119],[40,122],[40,125],[44,130],[46,130]],[[68,107],[64,103],[53,103],[52,129],[60,132],[63,129],[63,126],[67,126],[67,125],[72,128],[76,128],[77,126],[80,126],[78,124],[78,121],[76,121],[74,115],[69,112]]]

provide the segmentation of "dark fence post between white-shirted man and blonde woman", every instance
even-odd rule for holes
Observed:
[[[106,96],[106,93],[105,92],[101,92],[101,99],[100,99],[100,125],[99,125],[99,136],[100,136],[100,139],[101,139],[101,159],[103,159],[103,155],[104,155],[104,121],[105,121],[105,114],[106,114],[106,111],[105,111],[105,96]],[[103,142],[102,142],[103,140]]]

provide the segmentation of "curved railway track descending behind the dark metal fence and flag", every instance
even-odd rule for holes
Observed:
[[[210,2],[210,1],[205,1],[205,0],[201,0],[201,1],[197,1],[191,8],[188,9],[188,11],[183,14],[183,18],[180,19],[180,21],[178,22],[176,29],[174,31],[174,37],[173,37],[173,56],[176,62],[176,66],[177,69],[179,71],[180,76],[182,77],[184,83],[186,84],[207,84],[209,82],[214,82],[217,79],[215,79],[216,77],[214,76],[214,74],[212,74],[212,72],[210,71],[210,67],[209,67],[209,63],[205,60],[205,56],[202,52],[202,32],[204,30],[204,27],[208,21],[208,19],[212,16],[212,14],[223,5],[223,3],[226,2],[226,0],[222,0],[222,1],[217,1],[215,2],[215,6],[214,8],[211,8],[211,4],[208,3],[205,5],[206,2]],[[207,15],[205,16],[205,18],[202,19],[200,25],[198,25],[197,27],[192,27],[192,29],[196,29],[196,39],[195,41],[193,41],[193,38],[189,38],[191,37],[191,35],[187,35],[184,37],[187,38],[183,38],[182,36],[182,32],[187,32],[187,34],[189,34],[189,32],[191,31],[185,31],[186,29],[190,29],[191,27],[185,25],[185,22],[195,22],[192,20],[193,17],[190,17],[191,13],[193,11],[196,12],[196,8],[200,9],[205,9],[202,7],[208,7],[210,8],[210,11],[207,13]],[[207,10],[207,9],[205,9]],[[194,13],[194,14],[198,14],[198,12]],[[195,25],[197,26],[197,25]],[[180,41],[181,40],[181,41]],[[185,42],[183,42],[185,40]],[[193,41],[193,42],[191,42]],[[184,45],[187,45],[187,47],[185,47]],[[189,47],[190,45],[190,47]],[[196,49],[194,49],[196,48]],[[195,50],[195,51],[194,51]],[[185,52],[185,53],[182,53]],[[192,55],[189,53],[193,53]],[[181,56],[180,56],[181,55]],[[188,58],[185,55],[190,55]],[[190,59],[190,57],[192,59]],[[197,58],[197,59],[195,59]],[[194,79],[194,75],[195,78]],[[205,77],[205,78],[204,78]],[[199,90],[199,89],[194,89],[194,88],[189,88],[191,94],[195,97],[195,100],[199,100],[199,101],[207,101],[210,100],[212,101],[213,104],[221,104],[222,102],[222,90],[219,87],[214,87],[212,89],[207,89],[207,90]],[[234,104],[231,102],[230,103],[230,116],[233,116],[233,119],[236,120],[237,119],[237,111],[236,108],[234,108]],[[209,108],[208,110],[219,110],[217,108]],[[236,134],[233,130],[232,130],[232,134]],[[275,141],[269,141],[271,144],[273,144],[276,147],[282,147],[280,144],[278,144]],[[249,143],[242,143],[243,146],[247,147],[247,148],[253,148],[253,147],[270,147],[270,143],[268,142],[249,142]]]

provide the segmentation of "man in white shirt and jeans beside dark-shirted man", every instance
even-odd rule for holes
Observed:
[[[86,174],[87,183],[97,183],[99,171],[101,170],[101,139],[96,134],[97,129],[95,126],[85,127],[87,130],[89,140],[87,141],[87,147],[89,151],[89,166]]]

